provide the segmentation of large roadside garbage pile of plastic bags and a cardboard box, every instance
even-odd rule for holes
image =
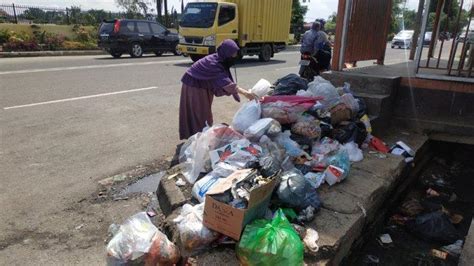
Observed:
[[[245,265],[302,265],[305,250],[318,251],[318,233],[304,228],[320,209],[317,189],[350,178],[361,149],[390,150],[372,136],[365,104],[348,83],[336,88],[317,77],[308,84],[290,74],[251,91],[261,100],[243,104],[230,126],[204,128],[182,146],[182,174],[199,204],[184,205],[174,220],[179,251],[157,229],[142,234],[151,226],[141,218],[132,223],[140,237],[116,235],[111,257],[135,260],[162,249],[146,259],[174,262],[229,238],[239,241]]]

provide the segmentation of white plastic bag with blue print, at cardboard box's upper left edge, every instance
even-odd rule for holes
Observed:
[[[220,178],[228,177],[239,170],[239,167],[227,163],[218,163],[215,169],[199,179],[193,186],[192,195],[199,202],[204,202],[207,192],[217,183]]]

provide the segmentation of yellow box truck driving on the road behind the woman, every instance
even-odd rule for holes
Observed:
[[[241,48],[241,57],[258,55],[266,62],[285,48],[290,18],[291,0],[191,2],[180,21],[178,50],[197,61],[232,39]]]

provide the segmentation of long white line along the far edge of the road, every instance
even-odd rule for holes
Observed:
[[[75,66],[75,67],[37,68],[37,69],[4,71],[4,72],[0,72],[0,75],[27,74],[27,73],[53,72],[53,71],[65,71],[65,70],[78,70],[78,69],[112,68],[112,67],[126,67],[126,66],[146,66],[146,65],[186,63],[186,62],[191,63],[190,59],[187,59],[187,60],[151,61],[151,62],[140,62],[140,63],[122,63],[122,64],[90,65],[90,66]]]

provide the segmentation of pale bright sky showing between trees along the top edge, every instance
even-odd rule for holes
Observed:
[[[186,4],[190,0],[184,0]],[[303,5],[307,5],[309,10],[306,14],[306,21],[313,21],[316,18],[325,18],[327,19],[333,12],[337,11],[337,0],[306,0]],[[45,6],[45,7],[70,7],[70,6],[79,6],[82,9],[104,9],[108,11],[118,11],[118,7],[115,4],[115,0],[10,0],[0,2],[10,3],[14,2],[15,4],[21,5],[36,5],[36,6]],[[152,0],[150,0],[152,2]],[[303,0],[301,0],[303,2]],[[168,8],[174,6],[175,9],[180,9],[181,6],[180,0],[168,0]],[[408,0],[407,8],[416,9],[418,6],[418,0]]]

